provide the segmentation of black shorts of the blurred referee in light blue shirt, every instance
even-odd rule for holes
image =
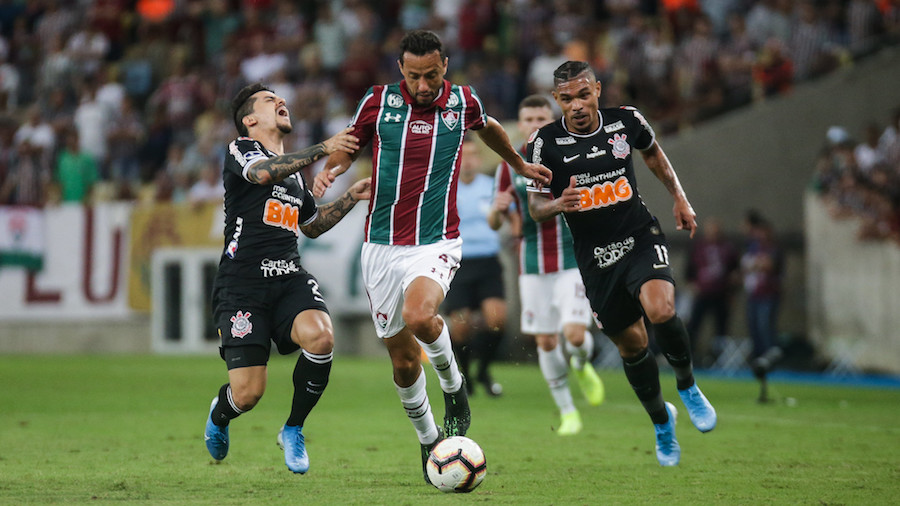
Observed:
[[[484,299],[503,298],[503,268],[499,257],[463,258],[442,309],[479,309]]]

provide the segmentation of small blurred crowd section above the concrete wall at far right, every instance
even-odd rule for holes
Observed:
[[[860,219],[860,239],[900,245],[900,107],[889,124],[869,123],[857,137],[840,126],[825,137],[813,190],[832,216]]]

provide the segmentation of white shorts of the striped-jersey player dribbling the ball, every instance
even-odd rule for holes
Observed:
[[[422,246],[363,243],[360,263],[375,333],[384,339],[403,330],[406,289],[422,276],[435,280],[447,295],[462,258],[462,239]]]

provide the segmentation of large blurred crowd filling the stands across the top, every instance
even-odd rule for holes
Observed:
[[[895,44],[900,0],[0,0],[0,204],[221,199],[240,87],[271,85],[309,145],[399,80],[415,28],[501,120],[578,59],[670,134]]]

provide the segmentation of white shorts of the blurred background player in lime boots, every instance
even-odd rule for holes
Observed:
[[[519,276],[522,300],[522,332],[530,335],[556,334],[563,325],[590,325],[591,306],[584,294],[578,269],[550,274]]]

